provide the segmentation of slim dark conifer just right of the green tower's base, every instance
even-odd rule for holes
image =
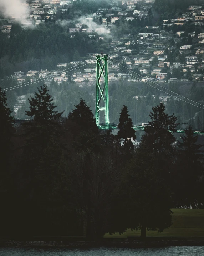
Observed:
[[[120,142],[124,140],[124,148],[134,149],[131,138],[136,139],[135,130],[133,129],[132,119],[128,114],[128,108],[125,105],[121,109],[118,129],[118,139]]]

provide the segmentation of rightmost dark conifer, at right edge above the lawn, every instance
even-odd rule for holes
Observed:
[[[185,130],[185,135],[178,141],[177,168],[175,177],[175,201],[177,206],[197,208],[199,204],[199,179],[203,174],[203,151],[197,144],[198,135],[192,127]]]

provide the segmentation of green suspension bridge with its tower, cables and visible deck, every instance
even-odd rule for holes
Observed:
[[[138,74],[134,71],[131,71],[130,69],[128,69],[127,67],[124,67],[122,64],[114,61],[113,59],[110,59],[108,57],[108,55],[96,55],[95,58],[92,58],[86,62],[80,63],[74,67],[71,68],[67,68],[64,69],[62,71],[57,72],[57,74],[55,75],[50,75],[50,76],[46,76],[44,78],[39,78],[36,79],[32,82],[27,82],[27,83],[23,83],[21,85],[17,85],[17,86],[13,86],[13,87],[9,87],[4,89],[5,91],[10,91],[10,90],[15,90],[24,86],[28,86],[31,84],[35,84],[35,83],[39,83],[42,81],[45,81],[49,78],[53,78],[56,76],[59,76],[60,74],[62,74],[62,72],[71,72],[74,71],[78,68],[81,68],[83,66],[86,66],[88,64],[93,64],[94,62],[96,62],[96,96],[95,96],[95,119],[96,119],[96,124],[98,126],[99,129],[101,130],[113,130],[113,129],[118,129],[118,125],[111,123],[109,120],[109,95],[108,95],[108,64],[110,64],[111,66],[113,66],[114,68],[117,68],[118,70],[121,70],[123,73],[128,74],[128,76],[131,76],[133,78],[135,78],[137,81],[143,82],[145,84],[147,84],[148,86],[151,86],[167,95],[170,95],[178,100],[181,100],[183,102],[186,102],[192,106],[198,107],[202,110],[204,110],[204,105],[195,102],[193,100],[190,100],[182,95],[179,95],[178,93],[175,93],[147,78],[144,78],[143,76],[141,76],[141,74]],[[115,64],[113,64],[112,62],[115,62]],[[121,67],[121,68],[120,68]],[[123,68],[123,69],[122,69]],[[124,71],[124,68],[127,69],[127,71],[131,72],[128,73],[126,71]],[[135,75],[137,75],[137,77]],[[138,77],[141,77],[142,79],[139,79]],[[162,90],[163,89],[163,90]],[[105,122],[101,123],[100,122],[100,112],[104,111],[104,116],[105,116]],[[20,124],[22,122],[26,122],[27,120],[24,119],[15,119],[15,123]],[[143,131],[144,130],[144,126],[133,126],[133,129],[136,131]],[[169,130],[170,131],[170,130]],[[178,132],[178,133],[185,133],[184,129],[175,129],[174,131],[170,131],[170,132]],[[200,134],[200,135],[204,135],[204,130],[193,130],[194,134]]]

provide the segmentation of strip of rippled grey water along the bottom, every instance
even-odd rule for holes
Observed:
[[[165,248],[97,248],[89,250],[0,248],[0,256],[203,256],[204,246]]]

